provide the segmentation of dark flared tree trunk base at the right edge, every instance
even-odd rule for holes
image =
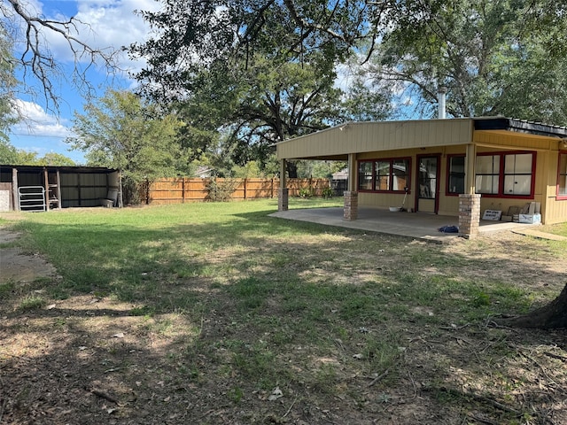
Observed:
[[[498,321],[501,325],[516,328],[555,329],[567,328],[567,284],[548,305],[534,310],[525,316],[513,317]]]

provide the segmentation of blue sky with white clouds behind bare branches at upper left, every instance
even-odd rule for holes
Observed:
[[[80,19],[89,24],[89,27],[80,29],[79,36],[82,40],[91,47],[117,50],[132,42],[143,42],[150,32],[149,26],[134,11],[155,11],[159,7],[159,3],[154,0],[20,0],[19,3],[46,19],[65,20],[72,16]],[[45,37],[58,62],[71,69],[73,57],[63,39],[49,33],[45,33]],[[16,42],[14,47],[17,56],[21,45]],[[136,71],[141,66],[143,64],[132,62],[127,55],[120,57],[120,68],[124,70]],[[18,73],[17,76],[21,81],[22,74]],[[136,85],[128,77],[128,73],[111,78],[100,68],[89,72],[89,81],[97,89],[98,97],[104,96],[105,90],[111,87],[132,89]],[[37,81],[27,79],[25,82],[37,93],[41,93]],[[41,96],[22,92],[17,104],[24,120],[12,127],[10,143],[17,149],[37,152],[39,158],[54,152],[72,158],[78,165],[84,164],[84,152],[70,151],[65,139],[72,135],[74,112],[82,113],[82,105],[86,100],[69,81],[62,79],[53,82],[60,96],[58,112],[52,111]]]

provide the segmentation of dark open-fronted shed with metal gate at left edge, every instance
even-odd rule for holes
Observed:
[[[93,166],[0,165],[0,211],[122,206],[120,173]]]

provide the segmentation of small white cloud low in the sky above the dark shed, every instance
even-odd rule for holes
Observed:
[[[39,104],[18,99],[16,107],[22,120],[12,127],[13,133],[60,138],[72,135],[71,129],[65,125],[66,120],[51,115]]]

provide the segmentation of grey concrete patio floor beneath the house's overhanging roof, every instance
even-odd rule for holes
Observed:
[[[439,228],[443,226],[457,226],[458,217],[427,213],[393,213],[387,208],[359,207],[358,220],[345,220],[341,207],[278,211],[270,214],[270,216],[441,243],[451,242],[459,236],[458,233],[439,232]],[[514,229],[518,230],[518,233],[532,233],[533,236],[537,236],[535,226],[514,222],[480,220],[479,233],[482,235],[488,232]]]

